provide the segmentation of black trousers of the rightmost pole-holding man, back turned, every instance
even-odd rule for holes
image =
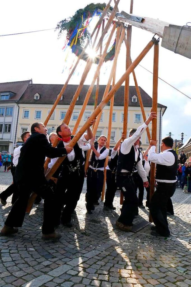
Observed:
[[[170,235],[167,222],[167,203],[176,189],[175,183],[158,182],[156,191],[150,201],[150,212],[158,233],[162,236]]]

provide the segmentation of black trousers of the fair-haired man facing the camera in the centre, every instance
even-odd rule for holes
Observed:
[[[91,210],[93,204],[98,202],[101,197],[101,192],[104,184],[104,171],[97,170],[96,172],[89,167],[87,171],[87,192],[86,192],[86,209]]]

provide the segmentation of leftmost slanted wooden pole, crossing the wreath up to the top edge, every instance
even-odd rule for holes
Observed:
[[[86,50],[86,48],[88,47],[88,45],[89,45],[89,43],[90,43],[90,41],[91,41],[93,35],[95,34],[95,32],[96,32],[97,28],[99,27],[99,25],[101,25],[102,20],[104,19],[105,15],[106,15],[106,13],[107,13],[107,9],[110,7],[111,1],[112,1],[112,0],[110,0],[110,1],[108,2],[108,4],[106,5],[106,7],[105,7],[105,9],[103,10],[103,13],[102,13],[100,19],[98,20],[98,22],[97,22],[97,24],[96,24],[96,26],[95,26],[93,32],[91,33],[90,38],[88,39],[86,45],[84,46],[84,49],[82,50],[81,54],[78,56],[78,59],[77,59],[77,61],[76,61],[76,64],[74,65],[72,71],[70,72],[70,74],[69,74],[69,76],[68,76],[68,78],[67,78],[67,80],[66,80],[64,86],[62,87],[62,89],[61,89],[61,91],[60,91],[60,93],[59,93],[59,95],[58,95],[58,97],[57,97],[57,99],[56,99],[56,101],[55,101],[55,103],[54,103],[52,109],[50,110],[50,113],[48,114],[46,120],[44,121],[44,125],[45,125],[45,126],[47,126],[47,123],[48,123],[48,121],[50,120],[50,117],[51,117],[51,115],[53,114],[53,112],[54,112],[54,110],[55,110],[57,104],[59,103],[59,100],[61,99],[61,96],[62,96],[62,94],[64,93],[64,91],[65,91],[65,89],[66,89],[66,87],[67,87],[67,85],[68,85],[68,82],[70,81],[70,79],[71,79],[71,77],[72,77],[74,71],[76,70],[76,67],[78,66],[79,61],[80,61],[80,60],[82,59],[82,57],[84,56],[85,50]],[[113,17],[113,18],[114,18],[114,17]],[[106,32],[105,32],[105,33],[106,33]],[[104,34],[104,36],[105,36],[105,34]],[[103,36],[103,37],[104,37],[104,36]],[[99,44],[97,45],[97,47],[99,48]]]

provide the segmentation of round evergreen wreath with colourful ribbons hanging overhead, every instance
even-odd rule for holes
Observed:
[[[68,45],[72,49],[72,53],[76,56],[79,56],[83,50],[83,46],[85,40],[90,37],[90,32],[88,31],[89,24],[93,18],[93,16],[101,15],[98,12],[98,9],[103,10],[106,7],[105,3],[97,3],[97,4],[89,4],[83,9],[79,9],[76,13],[70,17],[70,20],[64,19],[58,22],[56,26],[56,30],[58,30],[58,36],[66,31],[66,42],[64,48]],[[110,7],[112,10],[113,7]],[[64,49],[63,48],[63,49]],[[113,60],[115,55],[115,41],[110,48],[110,51],[106,54],[105,62],[109,60]],[[89,55],[87,53],[84,54],[83,60],[87,60]],[[98,59],[97,61],[98,62]]]

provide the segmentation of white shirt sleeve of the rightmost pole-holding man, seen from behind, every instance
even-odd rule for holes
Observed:
[[[175,157],[172,152],[168,152],[169,150],[172,149],[166,149],[164,152],[156,153],[156,147],[151,146],[148,151],[148,160],[155,164],[162,164],[169,167],[175,162]]]

